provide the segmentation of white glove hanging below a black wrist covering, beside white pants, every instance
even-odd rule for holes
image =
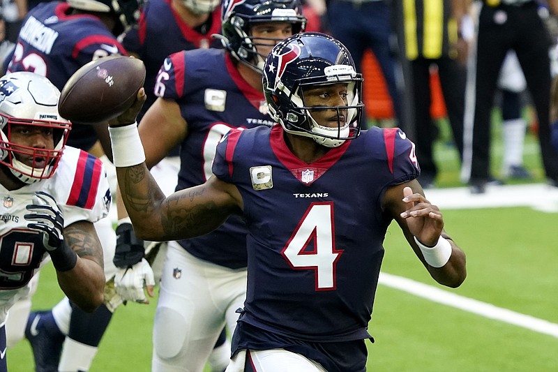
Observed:
[[[145,258],[132,267],[118,269],[114,276],[114,288],[124,301],[149,304],[149,299],[145,297],[145,290],[150,297],[153,297],[154,285],[153,270]]]

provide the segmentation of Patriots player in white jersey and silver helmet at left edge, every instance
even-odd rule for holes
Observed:
[[[6,315],[31,291],[49,258],[63,292],[82,311],[103,302],[103,251],[93,223],[107,216],[103,163],[65,147],[71,124],[46,77],[0,78],[0,371],[6,372]]]

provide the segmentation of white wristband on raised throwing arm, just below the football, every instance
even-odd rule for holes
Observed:
[[[145,152],[137,123],[109,127],[112,162],[117,168],[131,167],[145,161]]]

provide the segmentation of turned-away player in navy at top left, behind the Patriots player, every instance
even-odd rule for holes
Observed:
[[[61,90],[84,64],[110,54],[126,54],[116,36],[135,22],[138,6],[137,0],[40,3],[24,19],[8,71],[38,73]],[[99,157],[107,154],[112,158],[106,122],[95,126],[73,123],[68,144]],[[110,218],[97,221],[95,227],[103,244],[108,281],[116,273],[112,264],[116,234]],[[122,299],[107,295],[106,303],[93,314],[73,309],[74,306],[63,299],[52,311],[31,313],[29,319],[26,315],[31,299],[24,301],[27,305],[22,311],[13,312],[13,317],[8,318],[8,329],[10,333],[11,329],[17,332],[27,322],[25,336],[33,346],[36,370],[87,371],[112,312]],[[15,341],[17,336],[12,343]]]

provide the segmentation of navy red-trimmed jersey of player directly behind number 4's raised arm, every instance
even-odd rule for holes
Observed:
[[[177,190],[209,179],[216,146],[230,128],[273,125],[262,91],[241,77],[224,50],[172,54],[165,59],[159,80],[163,87],[158,96],[174,99],[188,124],[188,136],[181,143]],[[240,216],[231,216],[217,230],[180,244],[202,260],[233,269],[246,267],[246,226]]]

